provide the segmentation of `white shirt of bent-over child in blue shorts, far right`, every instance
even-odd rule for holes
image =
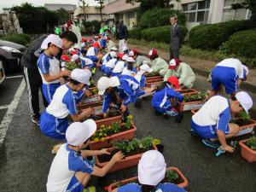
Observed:
[[[224,61],[220,61],[216,67],[233,67],[236,70],[236,76],[238,76],[239,79],[243,79],[243,67],[241,64],[241,61],[238,59],[228,58],[224,59]]]

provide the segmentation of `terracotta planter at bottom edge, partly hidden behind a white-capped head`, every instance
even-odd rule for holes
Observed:
[[[189,185],[189,181],[188,179],[183,175],[182,172],[179,171],[179,169],[177,167],[168,167],[166,168],[166,170],[172,170],[177,172],[178,176],[183,180],[183,183],[178,183],[177,186],[181,187],[181,188],[185,188]],[[116,183],[112,183],[111,185],[108,186],[108,192],[112,192],[113,189],[116,189],[119,185],[125,185],[127,183],[132,183],[132,182],[137,182],[137,177],[131,177],[131,178],[127,178],[125,180],[116,182]]]

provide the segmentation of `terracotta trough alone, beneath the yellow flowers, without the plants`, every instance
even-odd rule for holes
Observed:
[[[89,143],[90,150],[99,150],[102,148],[109,148],[111,146],[112,142],[132,139],[134,137],[134,134],[136,131],[137,131],[137,126],[134,124],[131,124],[130,130],[119,132],[119,133],[113,134],[112,136],[109,136],[109,137],[105,137],[104,142],[90,141],[90,143]]]

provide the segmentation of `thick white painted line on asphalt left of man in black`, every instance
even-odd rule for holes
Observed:
[[[6,136],[6,132],[8,131],[9,125],[12,122],[12,119],[14,117],[15,109],[18,107],[18,104],[20,102],[20,97],[22,96],[25,90],[25,87],[26,87],[25,79],[22,79],[20,86],[15,93],[15,97],[13,101],[9,104],[9,108],[0,124],[0,144],[3,143],[4,137]]]

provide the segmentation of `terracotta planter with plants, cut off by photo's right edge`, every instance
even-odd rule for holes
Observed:
[[[256,161],[256,137],[250,137],[249,139],[241,140],[239,142],[241,146],[241,156],[249,163]]]

